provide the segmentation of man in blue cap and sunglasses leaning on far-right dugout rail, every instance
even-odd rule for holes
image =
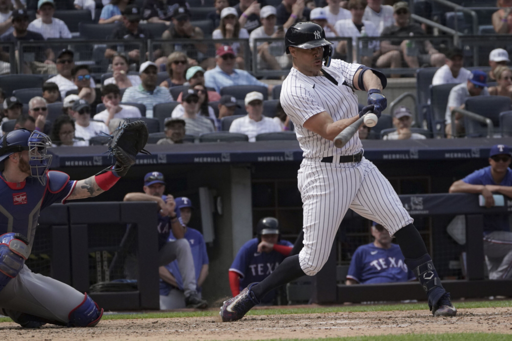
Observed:
[[[493,193],[512,198],[510,160],[509,147],[503,144],[494,145],[490,148],[490,165],[455,181],[450,186],[450,193],[481,194],[485,199],[485,207],[495,206]],[[489,279],[512,278],[512,232],[508,215],[484,215],[483,229]]]

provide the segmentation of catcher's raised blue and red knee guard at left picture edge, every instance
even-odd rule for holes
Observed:
[[[0,236],[0,291],[22,271],[30,255],[28,244],[28,240],[19,233]]]

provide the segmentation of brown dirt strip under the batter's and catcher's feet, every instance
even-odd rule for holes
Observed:
[[[95,328],[44,326],[22,329],[1,323],[3,340],[254,340],[403,333],[484,332],[512,334],[512,308],[460,309],[456,317],[434,318],[429,311],[338,312],[246,316],[235,323],[213,317],[115,319]]]

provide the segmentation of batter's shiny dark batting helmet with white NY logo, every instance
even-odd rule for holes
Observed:
[[[285,35],[286,54],[290,53],[290,46],[300,49],[313,49],[316,47],[324,47],[325,66],[331,63],[332,45],[333,43],[325,38],[325,31],[322,26],[303,22],[290,26]]]

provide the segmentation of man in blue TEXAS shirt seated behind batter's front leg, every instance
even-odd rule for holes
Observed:
[[[416,280],[407,268],[400,247],[382,225],[373,222],[373,243],[359,246],[352,256],[347,285],[407,282]]]

